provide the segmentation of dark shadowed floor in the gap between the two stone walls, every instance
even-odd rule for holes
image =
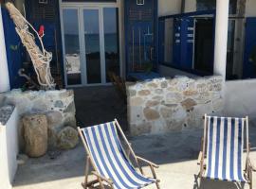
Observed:
[[[76,116],[82,127],[119,120],[127,130],[126,105],[113,86],[83,87],[74,89]]]

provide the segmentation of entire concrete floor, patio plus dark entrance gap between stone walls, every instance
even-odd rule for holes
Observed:
[[[119,119],[127,129],[126,110],[113,87],[89,87],[75,90],[77,117],[83,126]],[[197,156],[202,130],[187,130],[154,136],[129,138],[137,155],[158,163],[156,174],[162,189],[239,189],[233,183],[196,180],[199,167]],[[251,159],[256,164],[256,128],[250,129],[250,140],[254,151]],[[58,154],[58,153],[57,153]],[[82,144],[75,149],[60,152],[55,159],[46,155],[29,159],[20,165],[14,180],[14,189],[79,189],[83,180],[85,151]],[[147,174],[150,170],[145,168]],[[256,188],[256,174],[254,174]],[[155,188],[154,185],[147,188]]]

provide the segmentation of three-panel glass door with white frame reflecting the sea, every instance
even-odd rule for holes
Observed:
[[[65,8],[63,30],[67,86],[106,84],[110,73],[119,76],[117,7]]]

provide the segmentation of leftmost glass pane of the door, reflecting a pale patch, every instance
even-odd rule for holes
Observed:
[[[67,85],[82,84],[78,10],[64,9],[63,20]]]

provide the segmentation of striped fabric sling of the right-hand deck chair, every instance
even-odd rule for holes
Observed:
[[[207,117],[208,145],[205,177],[246,181],[243,174],[244,120]]]

